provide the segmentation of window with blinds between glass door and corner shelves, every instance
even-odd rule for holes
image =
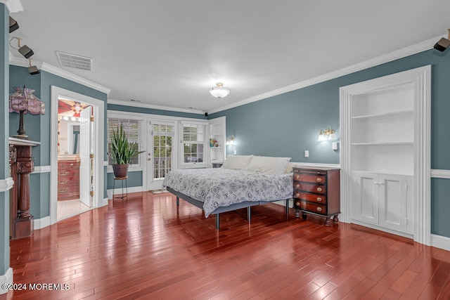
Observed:
[[[184,123],[181,143],[184,164],[205,162],[205,125]]]

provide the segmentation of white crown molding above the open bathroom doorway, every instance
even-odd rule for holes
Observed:
[[[58,67],[53,67],[53,65],[49,65],[48,63],[41,63],[37,60],[32,60],[33,64],[37,66],[38,69],[40,70],[44,70],[46,72],[49,72],[51,74],[55,74],[59,77],[63,77],[65,79],[69,79],[72,81],[77,82],[78,84],[82,84],[84,86],[88,86],[91,89],[95,89],[97,91],[101,91],[102,93],[105,93],[106,95],[108,95],[111,91],[111,89],[102,86],[100,84],[96,84],[95,82],[92,82],[90,80],[84,79],[81,76],[72,74],[68,71],[62,70]],[[9,64],[10,65],[17,65],[19,67],[28,67],[28,60],[24,59],[24,58],[16,58],[15,56],[13,56],[11,54],[11,51],[9,53]]]

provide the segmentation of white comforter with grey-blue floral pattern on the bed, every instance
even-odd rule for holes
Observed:
[[[234,203],[288,199],[293,195],[293,174],[222,168],[179,169],[169,171],[163,185],[203,202],[207,217],[217,207]]]

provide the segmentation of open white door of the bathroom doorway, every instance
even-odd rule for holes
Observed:
[[[92,183],[93,174],[91,173],[91,153],[92,149],[92,126],[91,126],[92,107],[86,107],[80,113],[79,124],[79,198],[88,207],[92,206]]]

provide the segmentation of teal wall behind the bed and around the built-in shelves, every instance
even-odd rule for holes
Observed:
[[[339,131],[339,88],[388,74],[432,65],[431,168],[450,170],[450,51],[434,49],[347,74],[320,84],[211,114],[226,116],[226,136],[235,136],[238,154],[292,157],[293,162],[339,164],[339,150],[318,142],[320,129]],[[339,140],[338,140],[339,142]],[[309,158],[303,155],[309,150]],[[450,237],[450,181],[432,178],[432,233]]]

